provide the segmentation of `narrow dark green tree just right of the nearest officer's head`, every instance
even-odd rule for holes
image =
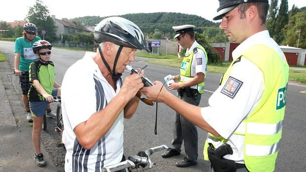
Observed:
[[[271,0],[271,5],[268,12],[266,27],[270,33],[270,36],[273,37],[275,34],[275,25],[276,25],[276,15],[278,11],[278,0]]]

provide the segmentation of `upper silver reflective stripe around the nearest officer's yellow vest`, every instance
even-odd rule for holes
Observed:
[[[263,124],[263,123],[255,123],[248,122],[247,133],[248,134],[256,134],[256,135],[273,135],[278,133],[283,129],[284,120],[281,120],[278,123],[274,124]],[[245,122],[242,121],[235,133],[245,133]]]

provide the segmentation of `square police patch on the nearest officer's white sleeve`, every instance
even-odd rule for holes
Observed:
[[[238,79],[230,76],[221,89],[221,93],[234,99],[242,84],[242,81],[239,81]]]

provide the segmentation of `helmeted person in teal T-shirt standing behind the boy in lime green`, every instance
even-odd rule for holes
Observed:
[[[33,23],[26,23],[23,26],[23,36],[18,37],[15,41],[15,75],[19,76],[19,84],[22,90],[22,100],[26,111],[26,120],[32,122],[32,115],[29,107],[28,92],[30,89],[29,82],[29,66],[37,60],[36,54],[32,51],[34,42],[41,40],[36,36],[37,28]],[[51,110],[50,105],[47,106],[47,117],[56,118]]]

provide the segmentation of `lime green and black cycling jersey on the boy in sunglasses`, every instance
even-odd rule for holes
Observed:
[[[40,60],[32,62],[29,70],[31,87],[28,93],[30,102],[44,101],[45,98],[36,90],[33,81],[38,80],[45,91],[51,95],[54,86],[54,64],[51,61],[42,63]]]

